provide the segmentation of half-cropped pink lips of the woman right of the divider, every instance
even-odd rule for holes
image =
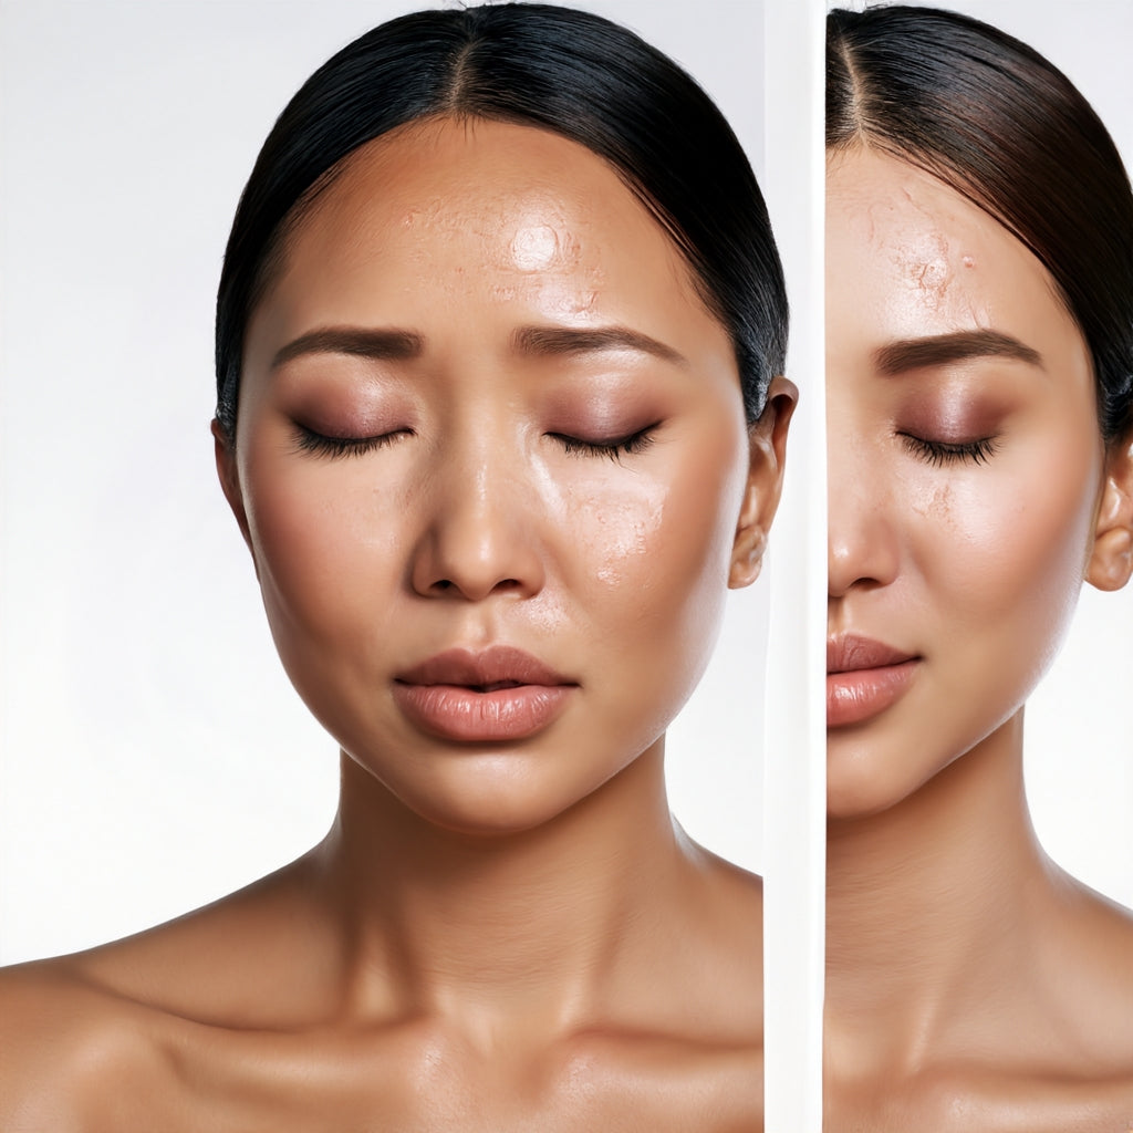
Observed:
[[[826,642],[826,726],[861,724],[909,690],[921,658],[883,641],[840,634]]]

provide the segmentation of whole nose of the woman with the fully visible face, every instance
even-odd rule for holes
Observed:
[[[544,583],[538,492],[523,454],[499,438],[438,452],[423,500],[411,585],[424,597],[530,597]]]

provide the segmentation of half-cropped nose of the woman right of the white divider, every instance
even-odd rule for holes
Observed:
[[[897,576],[900,548],[894,485],[884,462],[850,431],[837,435],[832,423],[827,475],[828,597],[844,597],[855,587],[888,586]]]

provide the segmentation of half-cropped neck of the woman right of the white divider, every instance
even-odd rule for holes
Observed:
[[[1023,791],[1022,712],[913,795],[827,832],[827,1020],[915,1064],[1012,983],[1055,886]],[[868,1043],[867,1043],[868,1046]],[[900,1055],[894,1055],[900,1051]]]

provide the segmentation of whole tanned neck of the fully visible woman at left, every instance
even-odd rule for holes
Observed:
[[[501,1015],[585,1017],[693,868],[668,813],[663,741],[551,821],[491,836],[426,821],[343,757],[316,862],[351,1000],[394,988],[390,1008],[479,1014],[488,1029]]]

